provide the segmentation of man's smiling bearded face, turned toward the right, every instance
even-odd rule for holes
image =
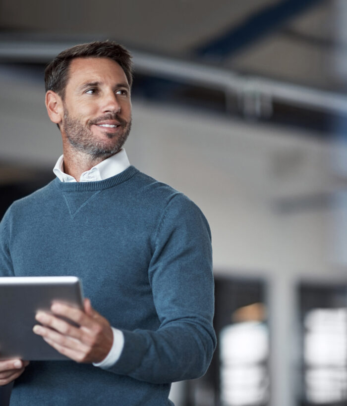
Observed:
[[[95,158],[114,155],[131,127],[130,89],[123,69],[110,58],[75,58],[63,100],[65,141]]]

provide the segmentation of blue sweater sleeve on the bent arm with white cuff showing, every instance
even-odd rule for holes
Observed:
[[[123,330],[123,351],[109,370],[156,384],[203,375],[216,347],[211,234],[184,195],[162,215],[148,277],[160,327]]]

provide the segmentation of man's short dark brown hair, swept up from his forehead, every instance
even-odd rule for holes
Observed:
[[[131,54],[123,46],[114,41],[94,41],[88,44],[75,45],[60,52],[45,69],[46,92],[53,90],[64,99],[65,87],[68,81],[68,70],[72,59],[99,57],[110,58],[123,69],[129,86],[132,85]]]

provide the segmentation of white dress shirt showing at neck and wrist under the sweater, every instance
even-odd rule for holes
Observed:
[[[111,178],[120,172],[123,172],[126,168],[130,166],[129,159],[126,155],[125,150],[122,148],[115,155],[103,160],[97,165],[93,166],[88,171],[82,173],[79,178],[80,182],[96,182]],[[64,173],[64,161],[63,155],[59,156],[56,166],[53,169],[54,174],[58,177],[61,182],[77,182],[76,179]],[[119,358],[123,347],[124,347],[124,336],[123,333],[111,327],[113,331],[113,344],[109,354],[101,362],[93,363],[94,366],[99,366],[100,368],[109,368],[112,366]]]

